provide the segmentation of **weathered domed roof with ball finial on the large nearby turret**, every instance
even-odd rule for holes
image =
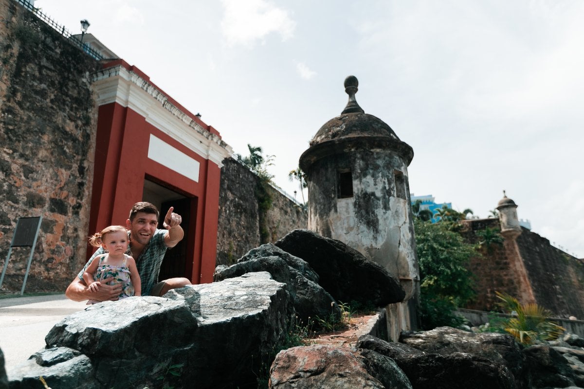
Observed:
[[[345,92],[349,94],[349,102],[345,110],[339,116],[326,122],[318,130],[310,142],[311,146],[333,139],[357,136],[375,136],[399,141],[398,136],[395,135],[390,126],[380,118],[364,113],[363,109],[357,104],[355,93],[358,85],[359,81],[355,76],[349,76],[345,79]]]

